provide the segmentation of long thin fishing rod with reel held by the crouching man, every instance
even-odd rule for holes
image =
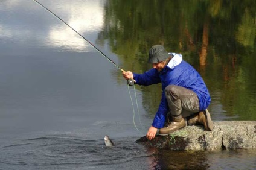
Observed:
[[[75,31],[75,33],[77,33],[80,37],[82,37],[84,40],[86,40],[86,42],[88,42],[94,49],[96,49],[98,52],[100,52],[101,55],[103,55],[105,58],[107,58],[107,60],[109,60],[113,65],[115,65],[118,69],[120,69],[122,72],[126,72],[123,69],[120,68],[120,66],[118,66],[116,63],[114,63],[114,61],[112,61],[109,57],[107,57],[107,55],[105,55],[103,52],[100,51],[100,49],[98,49],[96,46],[94,46],[91,42],[89,42],[89,40],[87,40],[85,37],[83,37],[80,33],[78,33],[74,28],[72,28],[70,25],[68,25],[64,20],[62,20],[59,16],[57,16],[56,14],[54,14],[52,11],[50,11],[48,8],[46,8],[44,5],[40,4],[38,1],[33,0],[34,2],[36,2],[37,4],[39,4],[42,8],[44,8],[46,11],[50,12],[51,14],[53,14],[53,16],[57,17],[57,19],[61,20],[64,24],[66,24],[69,28],[71,28],[73,31]],[[129,86],[133,86],[134,82],[136,82],[134,79],[129,79],[127,80],[127,84]]]

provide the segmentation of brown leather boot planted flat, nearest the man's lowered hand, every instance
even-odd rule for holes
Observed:
[[[179,116],[172,116],[172,122],[170,122],[170,124],[167,125],[167,127],[163,127],[161,129],[159,129],[158,134],[160,136],[166,136],[168,134],[173,133],[176,130],[179,130],[181,128],[186,127],[186,123],[184,121],[184,118],[182,118],[181,115]]]

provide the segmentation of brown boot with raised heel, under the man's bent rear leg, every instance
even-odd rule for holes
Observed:
[[[196,113],[191,118],[188,119],[188,125],[203,125],[205,130],[213,130],[213,121],[211,121],[211,116],[208,110],[203,110],[199,113]]]

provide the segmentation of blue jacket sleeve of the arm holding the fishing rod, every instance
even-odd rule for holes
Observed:
[[[159,73],[156,69],[150,69],[143,74],[133,73],[133,79],[136,81],[136,84],[142,86],[149,86],[151,84],[157,84],[161,82]]]

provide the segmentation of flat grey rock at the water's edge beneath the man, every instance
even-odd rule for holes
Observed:
[[[203,127],[187,126],[168,136],[146,136],[136,140],[146,147],[170,150],[231,150],[256,148],[256,121],[214,122],[212,131]]]

